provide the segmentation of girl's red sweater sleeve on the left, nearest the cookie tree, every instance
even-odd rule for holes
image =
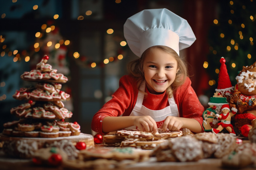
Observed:
[[[91,124],[92,130],[104,134],[102,132],[102,121],[105,117],[117,117],[123,113],[125,113],[126,116],[130,115],[135,105],[137,95],[138,89],[135,79],[128,75],[121,77],[119,81],[119,88],[112,95],[112,99],[105,103],[93,116]]]

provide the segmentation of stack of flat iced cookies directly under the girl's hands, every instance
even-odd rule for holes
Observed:
[[[116,134],[104,135],[105,146],[136,147],[141,149],[154,149],[157,145],[166,141],[165,139],[182,136],[182,131],[163,132],[158,129],[158,133],[142,132],[137,129],[119,130]]]

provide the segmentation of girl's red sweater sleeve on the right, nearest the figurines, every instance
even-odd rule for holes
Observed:
[[[204,112],[204,107],[199,102],[194,89],[191,87],[191,80],[189,77],[187,77],[185,83],[173,93],[173,96],[176,104],[178,105],[180,117],[197,120],[203,130],[202,115]]]

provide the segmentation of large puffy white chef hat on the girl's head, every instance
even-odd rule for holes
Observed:
[[[164,45],[179,51],[195,41],[187,20],[167,9],[143,10],[128,18],[123,26],[124,37],[136,56],[149,47]]]

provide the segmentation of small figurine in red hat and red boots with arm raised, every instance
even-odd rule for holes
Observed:
[[[220,122],[218,123],[218,127],[216,129],[211,129],[213,133],[217,134],[226,128],[230,135],[236,136],[233,125],[231,124],[231,117],[236,114],[237,109],[232,108],[231,110],[232,111],[230,112],[228,104],[222,105],[221,114],[216,114],[216,117],[218,120],[220,120]]]

